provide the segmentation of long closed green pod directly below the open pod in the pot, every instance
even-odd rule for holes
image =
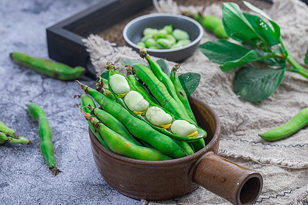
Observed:
[[[86,94],[92,96],[92,98],[99,103],[103,110],[107,111],[107,113],[110,113],[114,118],[122,122],[129,132],[138,139],[146,141],[159,152],[172,156],[173,158],[181,158],[188,155],[170,137],[156,131],[148,123],[134,117],[120,104],[110,100],[110,98],[107,98],[87,85],[80,83],[80,86]]]

